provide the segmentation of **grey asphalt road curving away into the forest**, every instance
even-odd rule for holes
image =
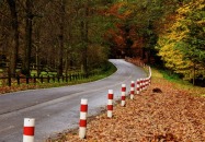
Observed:
[[[0,142],[22,142],[24,118],[35,118],[35,142],[79,123],[80,99],[88,98],[89,116],[99,114],[106,106],[107,91],[121,97],[121,84],[145,78],[141,68],[122,59],[111,59],[117,71],[111,76],[78,85],[29,90],[0,96]]]

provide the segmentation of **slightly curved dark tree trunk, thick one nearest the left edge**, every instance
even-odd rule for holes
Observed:
[[[13,45],[11,49],[10,56],[10,74],[11,76],[15,76],[16,63],[18,63],[18,54],[19,54],[19,22],[18,22],[18,13],[15,7],[15,0],[7,0],[12,17],[12,28],[13,28]]]

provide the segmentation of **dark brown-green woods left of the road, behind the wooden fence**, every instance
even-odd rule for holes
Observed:
[[[58,75],[72,67],[84,73],[99,68],[107,59],[107,48],[102,42],[105,17],[98,9],[106,4],[103,0],[1,0],[0,54],[8,58],[9,72],[30,75],[32,64],[37,74],[44,66]]]

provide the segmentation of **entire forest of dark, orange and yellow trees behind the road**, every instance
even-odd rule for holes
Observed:
[[[205,81],[204,0],[0,0],[0,68],[89,72],[135,58]]]

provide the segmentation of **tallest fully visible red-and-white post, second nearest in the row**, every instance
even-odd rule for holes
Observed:
[[[88,114],[88,99],[81,98],[80,106],[80,122],[79,122],[79,138],[84,139],[87,133],[87,114]]]

